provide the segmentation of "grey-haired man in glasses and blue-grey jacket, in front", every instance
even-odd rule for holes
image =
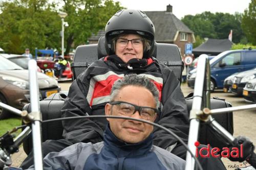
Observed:
[[[134,98],[136,94],[136,98]],[[154,122],[159,92],[142,76],[126,75],[113,85],[105,115]],[[107,118],[104,141],[76,143],[44,158],[44,169],[184,169],[185,161],[153,145],[153,126],[130,119]],[[33,166],[29,169],[33,169]]]

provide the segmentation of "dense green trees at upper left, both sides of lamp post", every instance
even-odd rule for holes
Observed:
[[[58,4],[64,4],[59,7]],[[67,12],[66,54],[71,45],[85,44],[92,33],[104,28],[119,9],[112,0],[13,0],[0,2],[0,46],[7,53],[22,54],[25,48],[61,46],[61,19],[57,11]]]

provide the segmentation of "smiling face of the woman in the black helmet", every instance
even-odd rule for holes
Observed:
[[[127,40],[132,40],[128,41]],[[116,41],[116,55],[123,62],[127,62],[133,58],[142,59],[143,57],[143,40],[139,35],[126,34],[120,36]]]

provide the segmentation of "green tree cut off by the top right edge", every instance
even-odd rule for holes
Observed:
[[[242,16],[242,29],[250,43],[256,45],[256,0],[251,0],[249,8]]]

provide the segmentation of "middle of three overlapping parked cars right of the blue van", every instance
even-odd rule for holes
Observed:
[[[233,78],[232,86],[231,86],[231,92],[233,94],[242,96],[243,95],[243,89],[245,87],[245,84],[256,77],[256,67],[251,70],[239,72],[236,76]]]

